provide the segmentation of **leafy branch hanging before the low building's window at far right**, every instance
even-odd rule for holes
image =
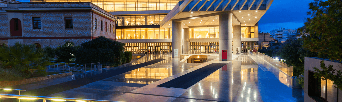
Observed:
[[[320,62],[320,67],[322,70],[319,70],[318,68],[314,67],[315,71],[315,78],[321,78],[322,80],[331,80],[333,81],[333,84],[335,84],[335,88],[342,88],[342,71],[333,69],[332,65],[328,65],[328,67],[325,66],[324,61],[322,60]]]

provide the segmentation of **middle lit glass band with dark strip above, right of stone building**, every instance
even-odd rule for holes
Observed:
[[[160,21],[163,20],[165,16],[166,15],[117,16],[117,26],[160,25]]]

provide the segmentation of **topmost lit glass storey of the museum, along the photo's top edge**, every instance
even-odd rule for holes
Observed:
[[[181,0],[30,0],[30,2],[92,2],[108,12],[172,10]]]

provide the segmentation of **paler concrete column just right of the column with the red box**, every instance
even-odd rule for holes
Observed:
[[[241,54],[241,26],[233,26],[233,54],[237,53],[236,48]]]

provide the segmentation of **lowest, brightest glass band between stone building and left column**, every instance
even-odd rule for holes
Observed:
[[[170,39],[171,28],[117,29],[117,39]]]

